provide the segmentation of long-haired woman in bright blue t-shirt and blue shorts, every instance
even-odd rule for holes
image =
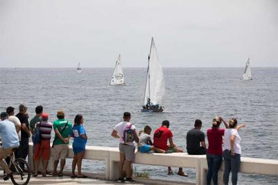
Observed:
[[[83,127],[83,115],[78,114],[74,118],[74,127],[72,127],[72,149],[74,150],[74,159],[72,161],[72,178],[86,178],[87,176],[81,173],[82,159],[85,154],[85,145],[87,143],[87,135]],[[77,175],[75,175],[75,167],[77,163]]]

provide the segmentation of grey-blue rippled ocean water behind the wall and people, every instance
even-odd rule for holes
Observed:
[[[117,147],[111,131],[131,112],[131,122],[141,130],[149,124],[153,131],[163,120],[170,120],[174,143],[186,149],[186,132],[195,119],[203,122],[202,131],[211,127],[215,116],[238,118],[246,127],[240,130],[242,156],[278,159],[278,68],[252,68],[254,79],[240,79],[243,68],[165,68],[165,112],[141,113],[145,90],[145,68],[124,68],[126,86],[109,86],[113,68],[75,69],[0,68],[0,111],[7,106],[28,106],[30,117],[35,106],[44,106],[51,121],[62,108],[67,119],[84,116],[88,145]],[[224,127],[224,126],[222,126]],[[103,172],[104,164],[85,161],[85,170]],[[135,165],[152,178],[194,182],[190,177],[167,176],[167,168]],[[67,168],[70,168],[68,165]],[[177,172],[177,168],[174,168]],[[239,184],[277,184],[278,177],[240,174]]]

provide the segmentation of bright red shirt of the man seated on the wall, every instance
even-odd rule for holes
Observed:
[[[154,131],[154,147],[158,147],[162,150],[167,150],[167,140],[172,138],[173,134],[170,129],[166,127],[160,127]]]

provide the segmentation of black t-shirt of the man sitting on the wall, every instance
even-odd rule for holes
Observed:
[[[204,132],[199,129],[191,129],[186,134],[186,150],[188,152],[199,151],[200,143],[204,141]]]

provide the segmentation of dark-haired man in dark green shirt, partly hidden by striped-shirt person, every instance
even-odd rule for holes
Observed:
[[[35,116],[30,121],[31,134],[34,134],[34,132],[38,129],[35,127],[37,123],[42,122],[42,118],[41,118],[42,111],[43,111],[43,107],[40,105],[35,108]],[[35,174],[33,175],[34,177],[38,175],[39,163],[40,163],[40,143],[33,143],[33,166],[35,169],[34,170]]]

